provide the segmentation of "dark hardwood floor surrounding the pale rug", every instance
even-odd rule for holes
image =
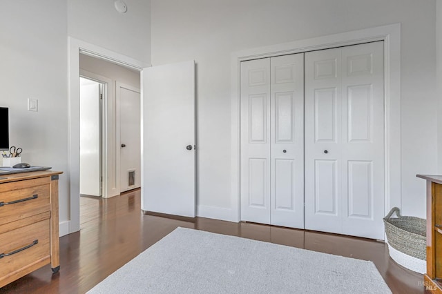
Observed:
[[[81,197],[81,231],[60,238],[59,273],[50,266],[0,288],[0,293],[85,293],[177,226],[371,260],[393,293],[425,293],[423,276],[398,266],[382,242],[197,217],[193,222],[143,215],[140,190],[101,199]]]

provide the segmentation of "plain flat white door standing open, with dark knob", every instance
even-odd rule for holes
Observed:
[[[142,71],[142,210],[195,217],[195,62]]]

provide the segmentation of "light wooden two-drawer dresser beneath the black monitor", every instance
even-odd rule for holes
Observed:
[[[0,175],[0,288],[46,264],[59,271],[59,174]]]

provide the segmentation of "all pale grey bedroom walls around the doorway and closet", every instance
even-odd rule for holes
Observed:
[[[64,171],[60,222],[70,219],[68,35],[154,64],[197,61],[198,204],[228,209],[231,52],[388,23],[402,24],[403,214],[425,216],[425,184],[414,175],[436,173],[437,165],[434,0],[125,2],[126,14],[105,0],[2,3],[0,106],[10,107],[10,139],[23,148],[23,161]],[[39,99],[39,112],[26,110],[30,97]]]

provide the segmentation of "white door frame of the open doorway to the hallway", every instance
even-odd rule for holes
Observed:
[[[85,41],[68,37],[68,121],[69,121],[69,145],[68,145],[68,186],[69,208],[66,215],[70,219],[59,224],[60,236],[79,231],[80,208],[79,208],[79,54],[90,55],[99,59],[119,64],[127,68],[142,71],[151,64],[112,50],[96,46]],[[106,110],[108,112],[108,109]],[[106,115],[106,114],[105,114]],[[108,144],[115,145],[115,142]]]

